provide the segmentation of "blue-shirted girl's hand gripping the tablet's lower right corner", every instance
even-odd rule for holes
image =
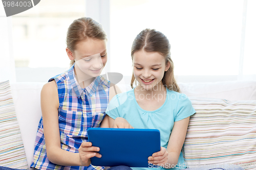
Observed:
[[[164,147],[161,147],[161,151],[154,153],[152,156],[148,157],[148,163],[154,165],[163,165],[168,160],[168,152]]]

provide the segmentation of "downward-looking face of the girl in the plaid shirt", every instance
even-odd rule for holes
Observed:
[[[76,44],[72,53],[75,59],[76,74],[86,81],[100,75],[108,59],[106,40],[88,38]]]

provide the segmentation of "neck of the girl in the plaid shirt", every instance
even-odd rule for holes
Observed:
[[[82,72],[79,67],[74,66],[74,72],[75,72],[75,77],[76,77],[76,81],[78,82],[79,86],[81,88],[86,88],[87,86],[89,86],[95,79],[95,77],[91,77],[88,76],[87,74],[85,74],[84,72]]]

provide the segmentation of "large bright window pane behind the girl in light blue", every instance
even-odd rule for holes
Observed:
[[[243,1],[111,0],[111,71],[131,75],[132,42],[151,28],[169,39],[175,75],[238,75],[242,17]]]

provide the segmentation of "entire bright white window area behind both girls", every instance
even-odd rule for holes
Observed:
[[[16,79],[46,82],[66,70],[67,29],[74,19],[90,16],[102,23],[109,37],[106,71],[131,76],[133,40],[151,28],[169,39],[176,76],[225,81],[238,80],[240,74],[254,80],[255,8],[253,0],[40,1],[12,17]]]

